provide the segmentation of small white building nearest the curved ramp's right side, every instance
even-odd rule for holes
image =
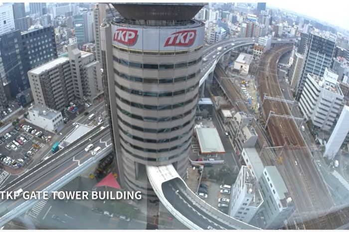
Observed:
[[[229,216],[250,224],[262,204],[263,198],[251,170],[241,166],[231,189]]]

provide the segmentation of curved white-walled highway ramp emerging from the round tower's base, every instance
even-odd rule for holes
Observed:
[[[218,211],[193,193],[173,165],[147,166],[149,181],[163,205],[191,230],[259,230]]]

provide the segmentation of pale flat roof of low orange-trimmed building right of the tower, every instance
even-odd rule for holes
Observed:
[[[195,127],[195,134],[199,142],[201,153],[225,153],[222,141],[216,128]]]

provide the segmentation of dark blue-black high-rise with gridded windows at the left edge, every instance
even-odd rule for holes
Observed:
[[[57,57],[53,27],[31,31],[15,30],[0,36],[0,55],[6,72],[3,82],[10,94],[29,88],[27,72]]]

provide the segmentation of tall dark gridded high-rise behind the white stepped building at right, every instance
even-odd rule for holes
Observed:
[[[336,35],[312,31],[309,34],[302,75],[298,83],[296,99],[299,100],[308,77],[308,73],[324,76],[329,68],[336,47]]]

